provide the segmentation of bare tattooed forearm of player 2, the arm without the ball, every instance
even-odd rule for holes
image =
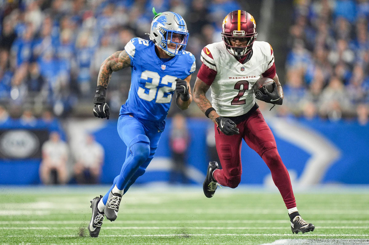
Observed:
[[[193,100],[203,113],[205,113],[208,108],[212,107],[210,101],[205,95],[209,88],[210,85],[204,83],[199,79],[199,77],[196,78],[196,82],[193,87]],[[210,111],[209,118],[218,125],[217,121],[215,121],[215,118],[217,117],[219,117],[219,115],[216,111]]]

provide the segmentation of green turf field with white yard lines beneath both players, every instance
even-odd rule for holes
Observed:
[[[227,187],[133,188],[90,238],[90,200],[108,187],[1,187],[2,244],[369,244],[369,191],[295,193],[314,232],[292,234],[279,193]]]

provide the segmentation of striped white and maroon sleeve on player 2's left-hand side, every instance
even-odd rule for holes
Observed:
[[[211,85],[218,73],[218,70],[213,59],[213,55],[207,47],[203,48],[201,51],[201,62],[203,63],[200,67],[199,73],[197,73],[197,77],[199,77],[199,79],[204,83]]]

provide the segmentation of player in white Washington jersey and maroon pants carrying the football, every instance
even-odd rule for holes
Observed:
[[[275,81],[273,92],[259,93],[256,99],[282,104],[283,90],[276,74],[273,49],[256,40],[254,17],[246,11],[229,13],[223,21],[223,41],[205,46],[203,64],[193,89],[194,101],[213,120],[215,142],[222,169],[210,162],[203,184],[206,197],[218,185],[236,188],[241,181],[242,139],[268,165],[288,209],[292,232],[314,231],[314,225],[297,211],[290,176],[277,151],[272,131],[255,103],[253,86],[260,77]],[[212,102],[206,92],[211,87]]]

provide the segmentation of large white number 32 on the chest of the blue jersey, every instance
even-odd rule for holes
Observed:
[[[145,89],[142,87],[139,87],[137,90],[137,94],[141,99],[152,101],[155,99],[156,91],[158,90],[159,82],[160,82],[160,76],[157,72],[152,72],[149,70],[145,70],[141,73],[141,79],[148,80],[149,78],[152,79],[152,82],[146,82],[145,88],[149,89],[149,93],[145,93]],[[172,99],[172,94],[168,94],[167,97],[164,97],[165,93],[172,92],[176,89],[176,80],[177,77],[165,75],[161,79],[161,83],[168,85],[168,83],[172,83],[171,87],[164,86],[159,88],[158,96],[156,96],[156,103],[170,103],[170,100]]]

